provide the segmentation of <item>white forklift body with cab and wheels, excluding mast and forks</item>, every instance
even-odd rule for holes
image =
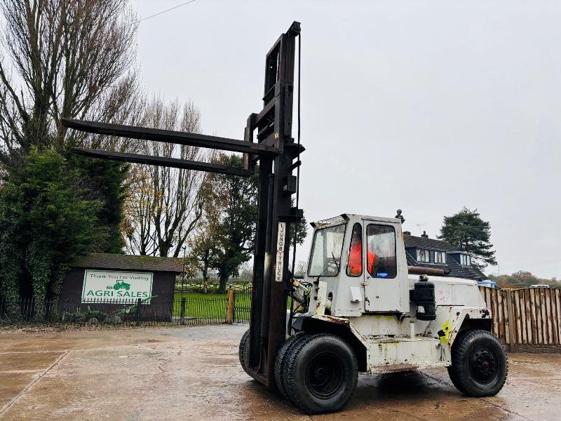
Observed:
[[[304,412],[341,409],[359,372],[446,367],[468,396],[503,387],[506,352],[476,281],[407,266],[402,222],[398,210],[396,218],[346,213],[312,224],[309,267],[293,282],[274,371],[278,390]]]

